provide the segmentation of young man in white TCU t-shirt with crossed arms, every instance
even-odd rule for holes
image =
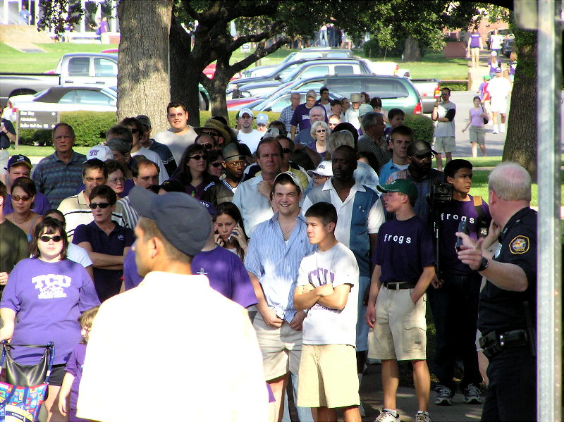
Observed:
[[[335,238],[337,211],[318,202],[305,213],[309,243],[318,250],[302,259],[294,306],[309,309],[302,330],[298,406],[317,408],[318,421],[360,422],[356,361],[357,261]]]

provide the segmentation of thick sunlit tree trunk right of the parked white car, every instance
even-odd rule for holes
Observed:
[[[168,32],[172,0],[121,0],[118,120],[146,114],[153,133],[168,128]]]

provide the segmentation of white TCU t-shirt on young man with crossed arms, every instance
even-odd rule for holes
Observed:
[[[348,284],[350,292],[342,311],[314,304],[304,320],[304,345],[356,345],[358,305],[358,265],[355,254],[338,243],[329,251],[314,252],[300,263],[298,286],[319,287],[332,283],[333,288]]]

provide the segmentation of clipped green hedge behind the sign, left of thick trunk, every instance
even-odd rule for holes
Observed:
[[[117,123],[116,113],[111,111],[66,111],[59,114],[61,122],[68,123],[75,130],[77,147],[92,147],[100,143],[101,132],[106,132]],[[23,145],[51,145],[49,129],[20,130],[20,144]]]

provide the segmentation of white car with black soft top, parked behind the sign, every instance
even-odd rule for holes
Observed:
[[[18,111],[113,111],[116,113],[116,88],[51,87],[37,94],[16,95],[8,99],[2,116],[16,122]]]

